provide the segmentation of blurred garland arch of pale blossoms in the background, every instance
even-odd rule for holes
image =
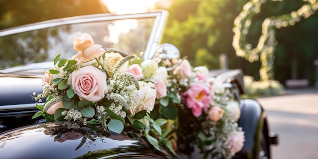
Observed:
[[[261,61],[260,80],[266,81],[274,79],[274,51],[277,45],[275,39],[275,29],[294,25],[301,18],[308,18],[318,9],[317,0],[300,0],[307,2],[297,11],[290,14],[273,16],[266,18],[262,23],[262,34],[255,48],[246,41],[249,27],[251,26],[251,18],[261,11],[261,6],[267,0],[250,0],[243,6],[243,10],[234,20],[234,37],[232,45],[237,56],[246,58],[248,61]],[[283,1],[283,0],[271,0]]]

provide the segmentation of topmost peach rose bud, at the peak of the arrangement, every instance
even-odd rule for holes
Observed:
[[[85,50],[88,47],[94,45],[93,38],[87,33],[83,33],[80,36],[75,38],[73,42],[74,49],[79,52],[81,50]]]

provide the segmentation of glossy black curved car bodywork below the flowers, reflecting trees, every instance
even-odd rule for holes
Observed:
[[[58,152],[58,153],[57,153]],[[0,158],[178,158],[154,149],[140,133],[121,134],[68,121],[18,128],[0,134]]]

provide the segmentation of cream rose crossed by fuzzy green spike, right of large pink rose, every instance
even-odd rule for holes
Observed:
[[[114,66],[122,58],[123,57],[118,52],[105,53],[105,58],[103,59],[102,63],[109,76],[113,76]],[[124,65],[121,66],[118,72],[119,73],[125,72],[127,68],[128,68],[128,62],[125,62]]]

